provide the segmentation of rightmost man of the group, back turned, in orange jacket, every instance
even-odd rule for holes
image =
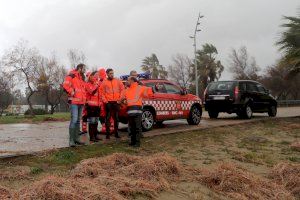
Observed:
[[[139,147],[142,134],[143,98],[153,95],[153,89],[139,85],[136,77],[128,78],[129,87],[122,94],[122,102],[127,105],[128,122],[131,133],[130,146]]]

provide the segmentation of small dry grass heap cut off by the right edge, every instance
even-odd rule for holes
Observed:
[[[300,198],[300,164],[279,163],[271,171],[270,177]]]

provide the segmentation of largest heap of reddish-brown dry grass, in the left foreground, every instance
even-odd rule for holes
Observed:
[[[16,193],[26,200],[123,200],[137,194],[153,198],[171,188],[182,171],[178,161],[164,153],[151,157],[113,154],[82,161],[70,177],[48,176]]]

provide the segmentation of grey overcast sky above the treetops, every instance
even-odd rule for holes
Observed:
[[[140,71],[151,53],[168,66],[176,53],[193,56],[189,36],[201,11],[198,46],[215,45],[228,68],[230,50],[245,45],[265,68],[280,57],[274,43],[282,16],[295,16],[299,6],[299,0],[0,0],[0,55],[23,38],[45,56],[55,51],[65,65],[75,48],[90,66],[110,66],[118,75]]]

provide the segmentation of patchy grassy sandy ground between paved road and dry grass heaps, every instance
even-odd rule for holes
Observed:
[[[132,149],[125,142],[67,148],[36,156],[0,160],[0,186],[18,191],[49,175],[68,177],[83,159],[103,158],[116,152],[145,157],[164,152],[177,159],[184,167],[211,172],[215,172],[222,163],[230,163],[257,178],[271,181],[270,173],[278,163],[295,164],[298,172],[300,171],[299,142],[298,117],[266,119],[247,124],[144,138],[139,149]],[[295,184],[299,185],[294,185],[294,188],[300,188],[300,182]],[[299,193],[299,189],[294,191],[295,199],[300,199]],[[162,189],[155,195],[156,199],[162,200],[231,197],[226,191],[218,191],[199,181],[184,180],[184,177],[180,181],[172,182],[171,188]],[[143,194],[125,197],[125,199],[133,198],[150,197]]]

